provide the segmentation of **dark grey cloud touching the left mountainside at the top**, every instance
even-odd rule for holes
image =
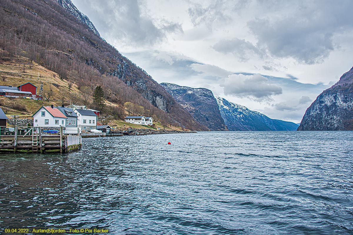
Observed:
[[[76,2],[76,1],[74,1]],[[169,32],[182,31],[181,25],[165,19],[158,23],[142,12],[137,0],[80,0],[79,9],[89,15],[101,35],[110,42],[130,45],[152,45]]]

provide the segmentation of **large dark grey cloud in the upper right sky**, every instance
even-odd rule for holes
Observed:
[[[298,62],[322,62],[334,50],[334,35],[352,31],[353,1],[259,1],[274,16],[247,23],[257,45],[272,56],[292,57]],[[283,10],[284,9],[284,10]]]

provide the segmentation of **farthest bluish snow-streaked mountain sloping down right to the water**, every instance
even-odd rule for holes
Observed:
[[[295,131],[298,125],[271,119],[245,106],[216,97],[221,116],[230,131]]]

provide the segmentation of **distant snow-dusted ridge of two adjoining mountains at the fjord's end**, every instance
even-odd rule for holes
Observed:
[[[245,106],[215,97],[209,89],[161,83],[169,94],[212,131],[295,131],[298,124],[271,119]]]

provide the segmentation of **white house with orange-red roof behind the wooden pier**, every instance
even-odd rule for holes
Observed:
[[[67,117],[56,107],[52,105],[42,106],[37,112],[32,115],[33,126],[48,126],[48,127],[59,127],[66,125]]]

